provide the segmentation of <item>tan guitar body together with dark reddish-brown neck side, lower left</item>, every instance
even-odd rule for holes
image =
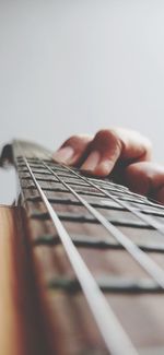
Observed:
[[[48,354],[22,209],[17,206],[0,206],[0,354]]]

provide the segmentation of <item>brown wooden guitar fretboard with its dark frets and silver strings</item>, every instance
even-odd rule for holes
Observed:
[[[57,354],[162,354],[164,206],[35,144],[12,153]]]

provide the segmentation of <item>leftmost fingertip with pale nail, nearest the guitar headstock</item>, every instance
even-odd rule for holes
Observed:
[[[72,135],[52,154],[54,161],[68,165],[77,165],[84,155],[93,137],[86,134]]]

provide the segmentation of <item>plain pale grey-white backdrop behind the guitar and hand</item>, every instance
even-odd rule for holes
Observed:
[[[0,0],[0,143],[140,130],[163,162],[163,0]],[[0,202],[13,174],[0,171]]]

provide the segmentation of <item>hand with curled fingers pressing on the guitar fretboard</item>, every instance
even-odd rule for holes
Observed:
[[[95,135],[79,134],[66,140],[54,159],[78,166],[97,177],[114,175],[133,192],[164,204],[164,166],[151,161],[148,138],[122,128],[102,129]]]

